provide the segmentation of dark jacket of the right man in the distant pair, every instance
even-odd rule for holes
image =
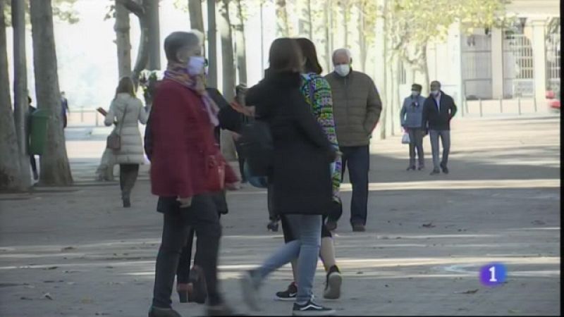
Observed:
[[[423,128],[428,130],[450,130],[450,119],[456,113],[454,100],[441,91],[441,113],[436,107],[435,97],[429,95],[423,107]]]

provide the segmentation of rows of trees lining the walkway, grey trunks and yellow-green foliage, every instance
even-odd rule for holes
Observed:
[[[69,185],[72,182],[63,130],[59,123],[59,80],[53,34],[53,16],[68,23],[78,17],[72,10],[75,0],[0,0],[4,12],[0,20],[0,47],[6,47],[6,26],[14,34],[14,103],[12,111],[6,49],[0,49],[0,189],[30,187],[27,163],[25,118],[27,82],[25,80],[25,26],[32,27],[37,106],[51,114],[49,145],[41,158],[39,182],[44,185]],[[202,0],[176,0],[175,6],[188,13],[190,28],[207,31],[209,82],[216,85],[216,30],[221,37],[222,87],[232,99],[236,82],[247,82],[245,22],[264,5],[274,6],[278,36],[309,37],[317,44],[326,70],[331,69],[331,52],[345,46],[356,52],[355,66],[366,71],[368,64],[384,63],[386,106],[399,101],[399,65],[423,74],[429,83],[427,44],[445,37],[448,27],[459,23],[462,30],[496,27],[507,23],[505,0],[207,0],[207,25],[204,25]],[[161,69],[159,38],[159,0],[109,0],[107,18],[114,18],[118,73],[130,75],[136,85],[143,70]],[[262,13],[262,12],[261,12]],[[140,25],[140,41],[132,68],[130,17]],[[216,19],[217,17],[217,19]],[[381,30],[376,28],[384,22]],[[211,30],[211,31],[210,31]],[[379,34],[383,33],[383,34]],[[384,38],[384,58],[374,56],[376,37]],[[40,40],[41,39],[41,40]],[[370,73],[367,71],[367,73]],[[386,112],[382,116],[385,127]],[[386,129],[381,130],[386,137]]]

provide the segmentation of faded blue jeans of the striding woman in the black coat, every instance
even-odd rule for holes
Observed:
[[[260,280],[298,258],[298,295],[296,302],[303,304],[312,299],[312,288],[317,258],[321,246],[321,215],[285,215],[296,240],[284,244],[257,269]],[[257,281],[260,282],[260,281]]]

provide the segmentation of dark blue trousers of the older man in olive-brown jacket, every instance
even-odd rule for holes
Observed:
[[[353,185],[353,199],[350,201],[350,223],[366,225],[368,205],[368,170],[370,152],[368,145],[362,147],[341,147],[343,152],[343,176],[348,167],[350,184]],[[341,180],[343,180],[341,178]],[[339,215],[340,216],[340,215]],[[329,220],[337,221],[333,216]]]

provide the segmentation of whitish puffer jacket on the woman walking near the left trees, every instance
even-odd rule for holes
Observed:
[[[123,118],[123,123],[120,122]],[[121,149],[114,151],[116,156],[116,163],[118,164],[143,164],[145,163],[145,156],[143,156],[143,143],[141,140],[141,133],[139,131],[140,122],[147,123],[149,115],[143,108],[143,103],[140,99],[131,97],[130,94],[118,94],[116,99],[111,101],[110,110],[106,115],[104,124],[109,126],[118,121],[114,131],[120,132],[121,129]]]

